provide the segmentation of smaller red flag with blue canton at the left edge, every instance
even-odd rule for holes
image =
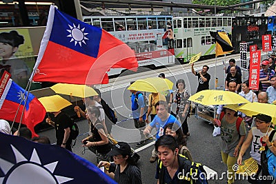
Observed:
[[[0,119],[14,121],[14,116],[17,113],[19,104],[21,104],[15,122],[20,122],[21,114],[23,113],[21,123],[27,125],[32,131],[32,136],[37,136],[34,132],[34,126],[44,120],[46,110],[39,100],[30,92],[28,94],[25,110],[23,110],[27,94],[28,92],[17,85],[17,83],[14,83],[12,79],[9,79],[0,99]]]

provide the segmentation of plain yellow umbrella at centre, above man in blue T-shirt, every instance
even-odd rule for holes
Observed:
[[[160,77],[150,77],[146,79],[139,79],[132,83],[128,90],[142,91],[142,92],[164,92],[172,90],[173,83],[168,79]]]

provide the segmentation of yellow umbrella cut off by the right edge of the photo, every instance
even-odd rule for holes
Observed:
[[[246,116],[254,116],[257,114],[266,114],[272,117],[272,122],[276,119],[276,105],[269,103],[246,103],[237,108],[238,111],[243,112]]]

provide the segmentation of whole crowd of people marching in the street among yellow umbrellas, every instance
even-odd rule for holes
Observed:
[[[191,65],[192,73],[197,76],[197,92],[209,89],[211,76],[208,74],[208,69],[208,65],[203,65],[202,69],[196,72],[194,64]],[[259,76],[262,88],[253,91],[250,90],[248,81],[242,81],[242,72],[239,66],[235,64],[235,59],[230,59],[228,68],[225,68],[227,74],[225,90],[238,93],[250,102],[275,103],[276,75],[274,70],[275,60],[273,57],[262,61]],[[159,77],[165,79],[165,74],[161,73]],[[179,178],[178,173],[181,168],[195,169],[197,173],[204,172],[200,167],[194,168],[193,156],[186,146],[188,136],[190,136],[187,121],[192,112],[188,100],[190,94],[184,79],[178,79],[175,85],[177,88],[175,96],[172,90],[152,92],[148,96],[148,104],[145,101],[145,94],[137,90],[130,90],[132,118],[135,128],[139,130],[141,136],[136,147],[146,144],[145,137],[150,139],[152,130],[155,129],[157,132],[155,148],[152,150],[149,161],[150,163],[157,161],[155,178],[158,183],[190,183],[191,178]],[[141,172],[132,158],[133,152],[130,145],[124,142],[112,145],[108,140],[112,123],[103,110],[103,104],[106,102],[101,99],[100,91],[95,90],[98,95],[83,99],[83,103],[86,105],[85,110],[75,106],[75,112],[88,120],[89,135],[82,140],[83,146],[88,147],[90,151],[95,153],[98,167],[104,167],[106,174],[118,183],[141,183]],[[177,105],[175,112],[171,109],[172,103]],[[46,123],[55,127],[57,145],[72,151],[72,139],[70,138],[72,120],[64,112],[51,113],[54,118],[48,117]],[[250,156],[258,164],[255,179],[249,180],[249,182],[260,182],[257,177],[261,173],[263,165],[259,149],[265,143],[267,149],[276,154],[276,134],[270,139],[270,134],[274,129],[271,121],[271,116],[265,114],[257,114],[251,117],[242,112],[237,112],[234,108],[224,107],[224,105],[217,107],[217,114],[213,123],[215,126],[219,126],[221,130],[219,145],[221,159],[228,168],[227,183],[235,182],[233,165],[236,163],[242,165],[242,157],[249,145],[251,145]],[[0,123],[0,132],[10,134],[9,124],[3,120]],[[32,133],[27,127],[21,127],[14,135],[23,136],[37,143],[50,144],[46,137],[32,138]],[[114,161],[114,163],[110,163],[110,161]],[[268,176],[269,173],[263,170],[262,175]],[[206,180],[197,176],[196,182],[206,183]],[[271,180],[262,181],[262,183],[271,183]]]

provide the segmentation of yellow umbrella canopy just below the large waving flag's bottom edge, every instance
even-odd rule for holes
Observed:
[[[50,88],[56,93],[77,96],[80,98],[98,95],[93,88],[90,88],[87,85],[57,83]]]

